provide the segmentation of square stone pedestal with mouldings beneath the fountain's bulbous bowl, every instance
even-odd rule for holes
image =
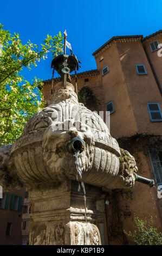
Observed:
[[[101,245],[101,239],[107,244],[101,188],[85,184],[86,223],[84,194],[77,186],[76,181],[66,180],[57,188],[29,191],[30,245]]]

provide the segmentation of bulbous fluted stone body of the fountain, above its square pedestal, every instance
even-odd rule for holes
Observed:
[[[79,154],[82,181],[112,187],[119,173],[119,145],[99,115],[77,101],[68,82],[67,89],[62,83],[56,85],[50,105],[28,121],[12,145],[20,179],[25,184],[76,180],[75,155],[65,147],[75,137],[85,142],[85,150]]]

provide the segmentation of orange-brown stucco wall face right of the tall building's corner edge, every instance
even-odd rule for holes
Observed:
[[[117,46],[119,56],[126,53],[125,56],[121,58],[121,66],[131,101],[131,107],[135,116],[135,122],[138,127],[137,132],[160,135],[162,123],[151,121],[146,103],[159,102],[160,108],[162,109],[161,95],[144,48],[141,42],[118,43]],[[137,74],[135,65],[142,64],[145,65],[147,75]],[[122,100],[124,100],[124,98]]]

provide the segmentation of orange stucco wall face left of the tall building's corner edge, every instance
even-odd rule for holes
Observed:
[[[100,62],[101,56],[103,60]],[[112,100],[114,103],[114,113],[110,117],[111,135],[115,138],[133,135],[137,132],[137,125],[115,44],[96,57],[96,65],[99,70],[105,66],[109,69],[108,73],[102,76],[102,84],[105,103]]]

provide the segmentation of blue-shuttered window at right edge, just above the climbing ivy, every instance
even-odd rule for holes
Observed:
[[[150,114],[151,121],[162,121],[162,114],[159,103],[147,103],[148,112]]]

